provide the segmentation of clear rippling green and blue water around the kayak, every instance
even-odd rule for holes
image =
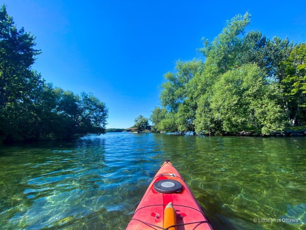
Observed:
[[[305,149],[303,137],[160,133],[2,145],[0,226],[125,229],[163,160],[171,159],[215,229],[306,229]]]

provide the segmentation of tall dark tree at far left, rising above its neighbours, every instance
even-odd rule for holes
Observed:
[[[3,4],[0,10],[0,106],[21,98],[36,76],[30,67],[40,50],[34,49],[35,37],[22,27],[17,30]]]

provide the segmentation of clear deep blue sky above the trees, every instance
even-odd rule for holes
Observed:
[[[177,59],[201,58],[226,20],[251,13],[247,31],[306,41],[305,1],[39,1],[4,3],[17,28],[42,50],[33,69],[75,93],[92,92],[109,108],[107,128],[127,128],[159,105],[163,74]]]

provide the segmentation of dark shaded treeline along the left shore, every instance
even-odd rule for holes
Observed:
[[[0,10],[0,141],[71,139],[105,133],[108,110],[92,94],[46,83],[31,69],[40,50]]]

